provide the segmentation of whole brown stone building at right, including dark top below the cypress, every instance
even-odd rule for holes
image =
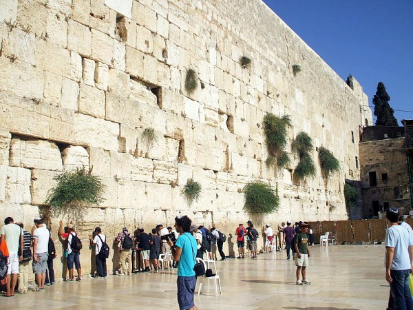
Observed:
[[[371,126],[359,145],[363,215],[379,216],[389,207],[411,209],[405,127]]]

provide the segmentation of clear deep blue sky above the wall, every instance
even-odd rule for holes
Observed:
[[[369,105],[381,81],[390,106],[411,111],[394,112],[399,124],[413,119],[413,0],[264,2],[343,80],[351,73]]]

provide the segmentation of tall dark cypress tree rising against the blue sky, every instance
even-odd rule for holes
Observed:
[[[373,96],[374,115],[377,116],[376,126],[399,126],[389,101],[390,96],[385,91],[384,84],[379,82],[377,92]]]

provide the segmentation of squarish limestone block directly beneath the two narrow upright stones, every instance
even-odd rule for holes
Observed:
[[[105,118],[105,101],[106,96],[103,90],[81,84],[78,112],[96,118]]]

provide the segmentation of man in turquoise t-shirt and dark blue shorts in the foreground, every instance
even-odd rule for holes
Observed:
[[[196,240],[189,230],[192,221],[188,216],[177,216],[175,218],[175,228],[180,236],[176,240],[176,245],[168,238],[168,244],[172,249],[173,259],[178,263],[178,304],[179,309],[198,310],[193,302],[195,292],[196,276],[193,267],[196,262]]]

